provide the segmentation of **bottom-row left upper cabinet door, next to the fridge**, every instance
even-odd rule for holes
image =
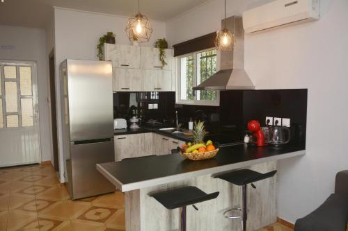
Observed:
[[[140,92],[143,90],[143,73],[141,69],[113,68],[113,91]]]

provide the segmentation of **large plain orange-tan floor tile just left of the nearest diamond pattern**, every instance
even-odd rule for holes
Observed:
[[[38,216],[39,218],[65,221],[68,219],[76,219],[90,207],[90,203],[86,202],[60,200],[38,212]]]

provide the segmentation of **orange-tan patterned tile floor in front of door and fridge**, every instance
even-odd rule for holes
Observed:
[[[0,231],[125,230],[125,202],[116,192],[70,200],[52,166],[0,169]],[[259,231],[291,231],[275,223]]]

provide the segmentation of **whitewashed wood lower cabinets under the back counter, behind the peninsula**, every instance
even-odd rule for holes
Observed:
[[[142,133],[115,136],[115,161],[125,158],[147,155],[167,155],[172,149],[185,142],[159,135],[157,133]]]

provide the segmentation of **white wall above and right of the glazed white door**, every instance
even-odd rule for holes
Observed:
[[[15,46],[0,50],[0,60],[35,61],[38,68],[38,101],[40,118],[41,161],[51,160],[51,133],[49,131],[48,70],[45,31],[37,28],[0,26],[1,45]]]

